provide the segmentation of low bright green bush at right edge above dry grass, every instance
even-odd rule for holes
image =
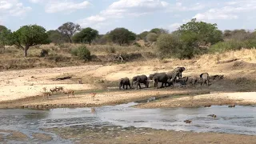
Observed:
[[[210,47],[210,53],[222,53],[230,50],[251,49],[256,47],[256,40],[218,42]]]

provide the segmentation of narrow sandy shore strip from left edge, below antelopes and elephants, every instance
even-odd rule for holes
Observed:
[[[57,107],[75,106],[106,106],[117,105],[126,102],[134,102],[152,97],[162,96],[187,96],[188,94],[209,94],[209,90],[122,90],[113,92],[98,92],[94,99],[88,91],[80,91],[74,98],[57,94],[50,99],[37,96],[34,98],[18,99],[16,101],[2,102],[0,108],[32,108],[46,109]]]

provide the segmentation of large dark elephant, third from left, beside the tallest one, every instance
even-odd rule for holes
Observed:
[[[158,88],[158,82],[162,82],[162,86],[165,84],[165,86],[170,86],[170,82],[168,82],[168,76],[166,73],[155,73],[155,74],[150,74],[149,76],[150,80],[154,80],[154,87]]]

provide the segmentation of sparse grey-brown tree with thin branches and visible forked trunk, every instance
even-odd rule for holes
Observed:
[[[62,26],[58,27],[58,31],[69,38],[70,43],[72,43],[72,36],[79,30],[81,30],[81,26],[74,24],[73,22],[66,22]]]

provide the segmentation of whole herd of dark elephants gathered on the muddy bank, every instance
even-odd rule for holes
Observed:
[[[137,75],[131,80],[131,86],[130,86],[130,79],[129,78],[121,78],[119,81],[119,90],[121,88],[126,90],[128,89],[128,86],[131,88],[134,87],[134,84],[136,84],[136,89],[138,90],[138,87],[141,89],[141,84],[144,84],[146,88],[149,87],[149,81],[153,80],[154,81],[154,87],[158,88],[158,82],[161,82],[162,87],[167,87],[167,86],[174,86],[174,83],[179,83],[183,86],[186,85],[192,85],[196,86],[197,83],[201,83],[202,85],[209,86],[209,74],[207,73],[202,73],[199,76],[186,76],[182,77],[182,72],[186,70],[185,67],[177,67],[174,70],[170,70],[167,73],[154,73],[150,74],[149,77],[146,75]]]

